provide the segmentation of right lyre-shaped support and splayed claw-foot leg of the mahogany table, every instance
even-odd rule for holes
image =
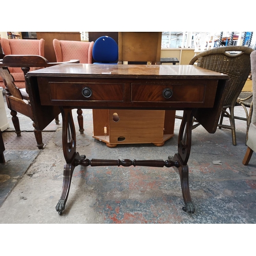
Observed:
[[[193,110],[184,111],[178,137],[178,154],[175,154],[174,161],[178,161],[178,167],[181,181],[182,196],[185,207],[182,209],[186,212],[193,213],[195,207],[192,203],[189,184],[188,184],[188,165],[187,161],[191,149],[191,132],[193,125]]]

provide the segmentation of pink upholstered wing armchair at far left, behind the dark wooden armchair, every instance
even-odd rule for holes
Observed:
[[[24,40],[24,39],[6,39],[1,38],[0,44],[3,52],[6,55],[39,55],[45,56],[45,40]],[[31,69],[33,70],[33,69]],[[25,77],[22,69],[10,68],[15,85],[18,88],[25,88]],[[0,87],[5,88],[3,79],[0,77]]]

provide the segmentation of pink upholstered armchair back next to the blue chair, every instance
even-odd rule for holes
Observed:
[[[57,62],[79,59],[80,63],[92,63],[94,42],[53,39]]]

